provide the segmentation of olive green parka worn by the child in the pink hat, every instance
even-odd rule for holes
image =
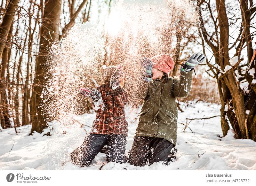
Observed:
[[[192,71],[180,72],[180,80],[169,77],[141,85],[139,98],[144,101],[135,136],[161,137],[176,145],[176,98],[187,97],[191,83]]]

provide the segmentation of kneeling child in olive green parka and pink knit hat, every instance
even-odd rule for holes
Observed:
[[[161,54],[143,59],[145,70],[139,97],[144,102],[129,155],[130,164],[144,166],[154,162],[168,162],[177,141],[176,98],[189,95],[192,70],[205,59],[204,54],[193,54],[181,65],[180,80],[169,77],[174,65],[170,55]]]

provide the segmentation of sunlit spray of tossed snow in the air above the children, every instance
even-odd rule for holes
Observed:
[[[102,65],[123,66],[129,103],[138,105],[136,93],[143,81],[141,59],[162,53],[172,55],[176,33],[184,27],[195,27],[197,20],[189,0],[143,4],[118,1],[106,17],[102,26],[91,22],[76,24],[60,43],[52,45],[41,104],[47,107],[49,121],[69,126],[75,115],[85,112],[88,100],[78,90],[102,83]]]

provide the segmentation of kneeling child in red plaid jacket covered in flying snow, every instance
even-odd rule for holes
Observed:
[[[92,99],[96,112],[93,128],[85,137],[82,146],[71,153],[74,164],[88,167],[95,156],[107,145],[107,162],[125,162],[125,144],[128,123],[125,120],[124,105],[127,92],[120,87],[121,67],[108,66],[100,69],[103,84],[96,89],[85,88],[80,92]]]

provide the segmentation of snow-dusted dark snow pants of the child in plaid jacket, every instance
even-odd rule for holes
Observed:
[[[71,160],[75,165],[88,167],[100,150],[107,145],[107,162],[125,163],[124,135],[90,134],[85,137],[84,143],[71,153]]]

